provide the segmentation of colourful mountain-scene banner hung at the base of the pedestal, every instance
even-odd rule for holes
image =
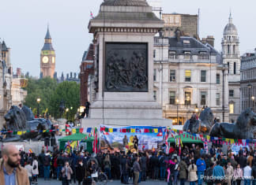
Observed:
[[[100,125],[101,149],[134,150],[134,137],[138,139],[138,150],[155,150],[164,142],[165,127],[129,126],[114,128]],[[124,139],[126,136],[126,139]],[[124,145],[126,143],[126,146]]]

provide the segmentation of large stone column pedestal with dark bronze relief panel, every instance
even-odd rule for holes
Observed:
[[[105,0],[90,20],[94,35],[95,100],[82,127],[171,126],[153,100],[154,35],[164,21],[145,0]]]

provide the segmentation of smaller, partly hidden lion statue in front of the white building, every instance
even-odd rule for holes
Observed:
[[[183,131],[190,131],[192,134],[197,134],[199,132],[209,133],[213,125],[213,112],[209,107],[206,107],[199,116],[197,120],[196,115],[192,115],[190,120],[186,120]]]

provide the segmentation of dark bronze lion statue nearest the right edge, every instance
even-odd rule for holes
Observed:
[[[239,115],[235,124],[214,124],[209,135],[228,139],[254,139],[255,126],[256,114],[252,109],[246,109]]]

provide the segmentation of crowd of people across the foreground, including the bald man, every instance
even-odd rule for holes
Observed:
[[[39,176],[45,180],[58,179],[63,185],[76,182],[87,185],[91,182],[88,179],[92,178],[92,173],[101,170],[109,181],[119,179],[124,184],[138,184],[148,179],[163,180],[168,185],[178,185],[178,181],[180,185],[186,181],[190,185],[240,185],[242,181],[245,185],[256,184],[256,152],[252,148],[241,147],[235,154],[228,147],[224,154],[220,147],[213,146],[206,154],[201,146],[192,144],[182,150],[171,146],[169,151],[170,154],[163,151],[127,154],[124,151],[106,151],[94,156],[86,150],[74,150],[68,154],[64,150],[43,149],[36,156],[17,151],[15,146],[5,146],[0,163],[0,181],[11,184],[13,174],[26,172],[28,182],[22,176],[17,178],[22,181],[18,184],[37,184]]]

